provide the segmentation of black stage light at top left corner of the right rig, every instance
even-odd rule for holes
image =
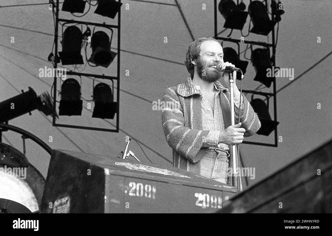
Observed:
[[[243,9],[243,5],[240,7]],[[243,29],[247,21],[248,12],[240,11],[239,7],[232,0],[221,0],[218,9],[223,18],[225,18],[224,28]]]

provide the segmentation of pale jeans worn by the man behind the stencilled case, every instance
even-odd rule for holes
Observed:
[[[227,184],[229,168],[229,153],[222,149],[208,148],[206,155],[200,160],[201,175],[215,181]]]

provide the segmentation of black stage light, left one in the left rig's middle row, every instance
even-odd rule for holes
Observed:
[[[62,39],[62,52],[59,52],[62,65],[84,64],[81,55],[82,32],[77,26],[65,29]]]

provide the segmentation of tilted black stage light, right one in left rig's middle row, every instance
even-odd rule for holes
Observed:
[[[104,31],[97,31],[91,37],[92,54],[89,62],[107,68],[117,53],[111,51],[110,37]]]

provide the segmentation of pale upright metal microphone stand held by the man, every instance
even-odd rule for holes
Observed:
[[[234,90],[233,90],[234,79],[232,77],[232,72],[228,72],[228,74],[229,74],[229,85],[230,85],[231,125],[235,125]],[[237,188],[237,191],[240,191],[239,189],[240,186],[238,184],[239,173],[236,171],[236,153],[235,153],[234,144],[232,145],[232,158],[233,158],[233,172],[232,172],[233,187]]]

